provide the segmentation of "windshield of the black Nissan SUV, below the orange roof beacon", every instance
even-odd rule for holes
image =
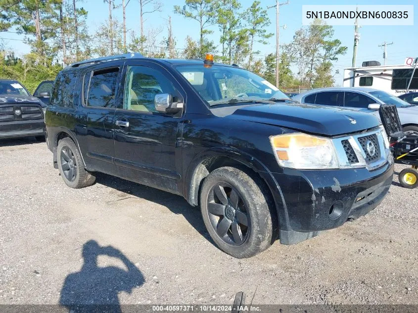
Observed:
[[[178,65],[176,69],[210,106],[241,102],[288,100],[285,93],[260,76],[222,65]]]

